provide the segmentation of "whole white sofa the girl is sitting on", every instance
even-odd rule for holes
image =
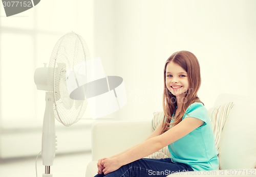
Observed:
[[[209,115],[226,114],[227,103],[232,108],[218,133],[220,170],[182,172],[185,176],[256,176],[256,99],[241,95],[221,94]],[[225,107],[226,108],[226,107]],[[220,116],[220,115],[219,115]],[[221,115],[223,116],[223,115]],[[220,120],[217,120],[217,123]],[[223,122],[222,122],[223,123]],[[86,177],[97,174],[97,161],[115,155],[145,140],[151,134],[152,121],[96,122],[92,128],[92,162],[87,166]],[[217,140],[216,140],[217,141]],[[162,150],[166,154],[166,150]],[[169,156],[168,154],[166,154]],[[180,175],[175,173],[168,175]]]

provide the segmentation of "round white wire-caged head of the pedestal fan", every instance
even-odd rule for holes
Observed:
[[[62,36],[53,48],[47,85],[54,93],[55,118],[66,126],[77,122],[87,108],[86,87],[80,86],[87,83],[85,65],[89,58],[86,42],[73,32]],[[83,88],[82,98],[72,99],[70,93],[77,88]]]

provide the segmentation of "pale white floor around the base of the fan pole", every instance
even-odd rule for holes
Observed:
[[[12,159],[0,162],[1,177],[36,177],[34,158]],[[84,177],[87,164],[91,161],[91,153],[77,153],[58,155],[51,167],[53,177]],[[37,176],[41,177],[45,172],[41,158],[37,160]]]

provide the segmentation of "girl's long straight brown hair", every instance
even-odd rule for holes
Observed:
[[[182,99],[183,104],[181,107],[181,111],[180,113],[175,114],[174,117],[172,116],[177,106],[176,96],[170,93],[170,91],[167,89],[165,84],[166,66],[171,61],[181,66],[187,72],[188,84],[189,84],[189,89],[187,90],[185,97]],[[185,111],[189,105],[195,102],[202,103],[199,97],[197,96],[197,92],[201,85],[200,65],[197,60],[197,57],[194,54],[185,50],[172,54],[165,62],[163,75],[164,75],[163,111],[165,114],[165,119],[163,122],[161,134],[169,130],[170,126],[174,127],[182,120],[182,117],[184,114],[186,114]],[[175,120],[172,123],[170,123],[170,120],[172,119],[175,119]]]

